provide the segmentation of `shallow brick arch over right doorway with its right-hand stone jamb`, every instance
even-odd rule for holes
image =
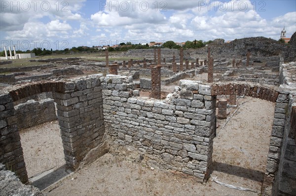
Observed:
[[[262,194],[266,187],[272,187],[274,185],[275,176],[278,172],[280,161],[279,155],[283,145],[282,140],[286,121],[286,116],[284,114],[287,103],[285,103],[285,101],[289,99],[289,93],[280,90],[280,87],[277,86],[241,82],[212,84],[210,85],[209,90],[211,90],[211,96],[214,97],[217,95],[251,96],[270,102],[276,102],[269,151],[267,155],[267,166],[261,187]],[[213,149],[212,146],[210,147]],[[277,151],[270,149],[277,149]]]

